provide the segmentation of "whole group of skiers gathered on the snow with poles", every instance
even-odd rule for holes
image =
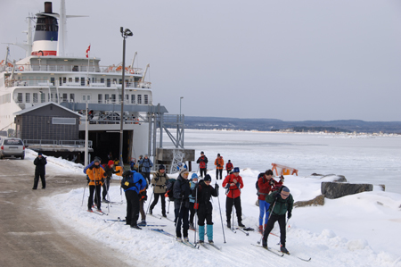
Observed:
[[[155,205],[158,204],[160,198],[162,216],[167,217],[166,197],[169,196],[170,200],[174,200],[177,241],[188,241],[188,230],[195,229],[194,217],[197,216],[199,242],[204,242],[206,231],[209,243],[213,244],[213,205],[210,200],[211,197],[218,196],[219,186],[217,182],[214,187],[211,185],[211,177],[207,174],[208,158],[203,151],[197,163],[200,164],[200,177],[198,177],[197,173],[192,173],[191,178],[189,178],[190,173],[183,165],[177,179],[169,179],[166,174],[166,167],[160,164],[158,170],[153,174],[152,179],[150,179],[153,163],[151,163],[147,155],[140,158],[138,163],[132,162],[132,171],[124,171],[122,174],[123,179],[121,180],[121,187],[124,188],[127,199],[126,224],[135,229],[141,229],[140,226],[146,225],[143,203],[147,199],[146,189],[151,185],[153,188],[152,196],[154,196],[154,200],[150,205],[150,214],[153,213],[153,209]],[[218,179],[218,176],[222,179],[224,160],[220,154],[217,154],[215,165],[217,166],[216,179]],[[110,176],[112,173],[117,172],[112,171],[113,164],[108,164],[107,167],[109,168],[107,171],[103,170],[100,165],[100,159],[95,158],[93,164],[88,166],[86,170],[86,174],[90,180],[88,211],[91,211],[93,207],[92,199],[94,191],[95,195],[98,196],[94,198],[95,204],[97,205],[97,209],[101,211],[101,187],[97,186],[106,185],[103,187],[102,197],[104,199],[110,186]],[[245,225],[243,225],[241,217],[241,188],[243,188],[244,185],[240,176],[240,168],[234,168],[233,163],[228,161],[226,170],[227,175],[222,182],[222,187],[226,190],[226,225],[228,228],[232,227],[231,219],[234,219],[232,213],[233,208],[235,208],[238,227],[243,228]],[[106,178],[106,182],[104,182],[103,178]],[[109,182],[107,182],[107,178],[109,178]],[[285,247],[286,214],[287,218],[290,219],[294,200],[291,196],[290,189],[282,185],[283,181],[284,178],[282,176],[279,181],[274,180],[272,170],[267,170],[258,175],[256,186],[258,188],[259,205],[258,231],[263,235],[262,246],[267,247],[267,237],[274,228],[275,221],[278,221],[281,233],[281,250],[283,253],[288,253]],[[171,188],[168,188],[168,184],[170,184]],[[171,191],[170,195],[168,195],[169,191]],[[142,214],[142,221],[138,223],[139,213]]]

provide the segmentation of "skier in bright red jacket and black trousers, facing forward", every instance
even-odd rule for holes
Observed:
[[[242,210],[241,210],[241,190],[243,188],[242,178],[240,176],[240,168],[233,168],[233,173],[226,176],[222,184],[223,188],[227,188],[225,195],[225,215],[227,216],[227,227],[231,228],[231,212],[233,211],[233,205],[237,212],[238,226],[245,227],[242,224]]]

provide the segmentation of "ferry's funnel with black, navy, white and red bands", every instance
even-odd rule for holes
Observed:
[[[45,13],[37,13],[37,27],[31,55],[57,55],[59,14],[53,13],[52,2],[45,2]]]

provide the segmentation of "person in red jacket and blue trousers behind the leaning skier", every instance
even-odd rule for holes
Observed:
[[[263,217],[265,216],[265,229],[269,219],[269,206],[266,202],[266,196],[272,192],[272,188],[281,187],[284,178],[277,182],[273,177],[273,171],[267,170],[259,174],[258,179],[258,200],[259,200],[259,233],[263,234]]]

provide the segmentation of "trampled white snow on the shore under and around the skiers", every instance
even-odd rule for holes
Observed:
[[[241,135],[241,133],[239,133]],[[186,133],[186,138],[188,137]],[[257,134],[256,134],[257,135]],[[238,137],[238,134],[237,134]],[[322,138],[339,139],[339,138]],[[357,140],[358,138],[352,138]],[[366,139],[366,138],[364,138]],[[370,139],[370,138],[369,138]],[[230,142],[229,140],[226,141]],[[258,146],[258,145],[256,145]],[[246,149],[246,146],[243,146]],[[319,150],[321,147],[317,147]],[[208,150],[204,149],[208,155]],[[226,154],[225,145],[213,147],[214,151]],[[287,152],[289,150],[286,150]],[[308,165],[311,148],[304,151],[306,156],[298,159],[296,167],[301,174],[299,176],[286,176],[285,185],[291,189],[295,201],[309,200],[321,194],[320,186],[323,180],[333,180],[336,176],[328,176],[324,179],[317,176],[308,176],[302,171],[302,166]],[[321,154],[319,151],[317,154]],[[250,151],[251,155],[252,152]],[[255,156],[257,154],[254,154]],[[35,154],[28,154],[33,157]],[[291,157],[291,155],[290,155]],[[289,158],[290,158],[289,157]],[[288,159],[289,159],[288,158]],[[318,156],[314,155],[315,159]],[[225,161],[228,157],[225,156]],[[82,173],[82,165],[69,163],[61,159],[47,157],[48,168],[54,164],[61,167],[62,171],[74,171]],[[233,160],[233,158],[232,158]],[[328,169],[339,170],[345,161],[339,157],[323,159]],[[212,168],[214,156],[209,155],[209,168]],[[268,162],[268,161],[267,161]],[[288,162],[288,161],[282,161]],[[341,164],[340,164],[341,163]],[[236,165],[234,163],[234,165]],[[336,167],[333,168],[332,165]],[[270,168],[266,163],[263,170],[245,168],[241,165],[241,177],[244,180],[244,188],[241,191],[242,219],[247,227],[258,228],[258,206],[255,180],[258,172]],[[390,166],[394,168],[394,166]],[[308,165],[308,168],[312,168]],[[356,166],[343,166],[340,171],[355,169]],[[321,170],[323,168],[321,167]],[[195,170],[196,171],[196,170]],[[317,172],[317,171],[316,171]],[[329,171],[330,173],[331,171]],[[327,173],[327,172],[326,172]],[[209,171],[215,183],[215,171]],[[324,173],[323,173],[324,174]],[[343,174],[338,172],[337,174]],[[347,175],[346,175],[347,176]],[[174,175],[173,175],[174,177]],[[85,179],[82,173],[82,179]],[[217,183],[221,185],[221,180]],[[120,195],[118,177],[114,177],[110,187],[110,199],[123,204],[110,205],[110,213],[107,204],[102,204],[103,212],[109,215],[97,215],[86,212],[87,197],[82,206],[83,189],[74,189],[57,196],[47,196],[41,201],[53,215],[54,220],[65,223],[70,228],[78,231],[83,236],[92,238],[94,242],[102,242],[104,246],[120,250],[127,255],[127,263],[135,266],[401,266],[401,195],[391,192],[383,192],[379,187],[374,187],[372,192],[364,192],[352,196],[344,196],[338,199],[325,199],[323,206],[295,208],[287,229],[287,248],[291,254],[301,257],[312,257],[308,263],[300,261],[294,256],[278,257],[262,248],[251,246],[257,244],[260,235],[250,232],[249,236],[238,231],[233,233],[224,228],[225,241],[220,220],[219,204],[225,223],[225,195],[220,189],[219,203],[213,199],[214,213],[214,240],[217,246],[222,246],[219,252],[214,248],[192,249],[176,243],[173,238],[153,232],[146,228],[142,230],[131,229],[124,222],[104,221],[107,219],[125,218],[127,205],[124,192]],[[86,188],[86,196],[87,188]],[[151,189],[148,190],[148,199],[151,198]],[[145,206],[148,207],[149,200]],[[160,202],[153,210],[154,214],[161,214]],[[168,217],[174,219],[173,204],[170,204]],[[166,219],[157,219],[148,215],[146,221],[149,224],[167,224],[160,227],[174,234],[174,223]],[[236,221],[235,221],[236,222]],[[279,235],[278,226],[274,227],[274,234]],[[194,239],[194,232],[189,231],[190,241]],[[276,245],[279,238],[270,235],[269,246],[278,249]],[[127,250],[127,248],[129,248]]]

